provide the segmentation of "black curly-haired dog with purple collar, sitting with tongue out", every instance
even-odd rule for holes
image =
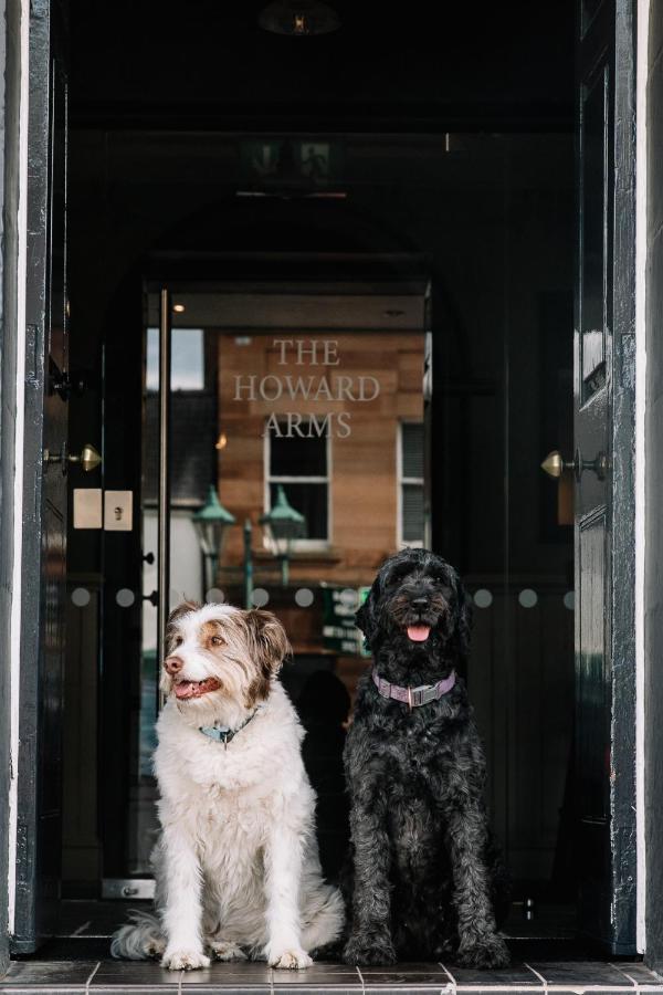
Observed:
[[[349,964],[452,955],[508,964],[494,905],[505,878],[490,841],[485,761],[464,669],[471,606],[425,549],[380,568],[357,625],[372,651],[344,762],[351,803]]]

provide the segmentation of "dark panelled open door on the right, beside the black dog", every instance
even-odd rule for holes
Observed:
[[[635,952],[634,4],[580,0],[575,315],[581,931]]]

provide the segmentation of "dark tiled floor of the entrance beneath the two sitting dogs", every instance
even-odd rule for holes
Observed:
[[[135,903],[134,903],[135,904]],[[607,995],[660,993],[663,977],[639,963],[591,960],[572,940],[572,921],[556,910],[537,911],[534,922],[516,912],[505,930],[513,956],[505,971],[466,971],[453,964],[399,964],[394,968],[351,968],[316,963],[306,971],[273,971],[260,963],[213,964],[204,971],[162,971],[156,962],[122,962],[108,956],[108,936],[125,918],[124,903],[64,902],[60,939],[33,957],[14,961],[0,992],[22,995]]]

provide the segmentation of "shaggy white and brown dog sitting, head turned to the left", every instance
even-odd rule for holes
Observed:
[[[288,642],[269,611],[186,603],[171,614],[155,771],[161,832],[155,912],[113,938],[116,957],[172,971],[263,957],[307,967],[343,929],[325,883],[304,735],[276,677]]]

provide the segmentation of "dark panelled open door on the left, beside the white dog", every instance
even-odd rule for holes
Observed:
[[[67,84],[57,3],[30,14],[30,161],[14,953],[52,934],[60,890],[66,563]]]

